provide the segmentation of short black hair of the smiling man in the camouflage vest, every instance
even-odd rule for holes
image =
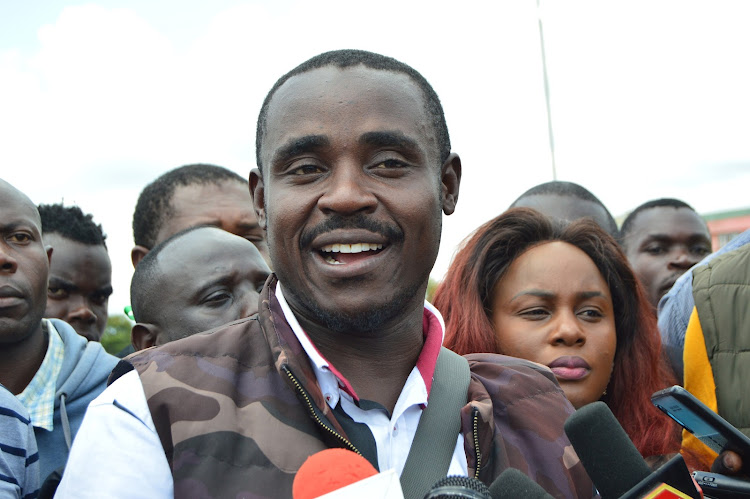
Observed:
[[[448,125],[445,123],[443,106],[440,104],[440,99],[438,98],[437,93],[435,93],[435,90],[425,77],[419,74],[416,69],[401,61],[393,59],[392,57],[376,54],[374,52],[367,52],[365,50],[345,49],[324,52],[316,55],[312,59],[308,59],[279,78],[273,87],[271,87],[271,90],[268,92],[268,95],[266,95],[263,105],[260,108],[258,127],[255,134],[255,158],[258,162],[258,168],[260,168],[261,171],[263,170],[263,165],[261,164],[260,149],[261,144],[263,143],[263,136],[266,133],[268,107],[271,104],[271,99],[276,93],[276,90],[278,90],[279,87],[286,83],[286,81],[292,76],[306,73],[313,69],[319,69],[326,66],[335,66],[337,68],[345,69],[360,64],[370,69],[404,74],[422,90],[425,110],[432,120],[432,126],[435,130],[435,136],[437,137],[440,161],[444,162],[448,159],[448,156],[451,153],[451,139],[448,134]]]

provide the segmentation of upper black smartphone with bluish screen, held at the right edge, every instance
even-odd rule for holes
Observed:
[[[750,438],[692,393],[675,385],[654,393],[651,402],[714,452],[731,450],[741,455],[743,468],[750,469]]]

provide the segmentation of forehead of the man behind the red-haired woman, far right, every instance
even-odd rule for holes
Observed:
[[[638,213],[633,220],[629,237],[642,239],[651,235],[673,238],[709,237],[706,224],[689,208],[657,206]]]

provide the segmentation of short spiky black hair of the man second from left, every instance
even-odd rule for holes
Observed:
[[[107,236],[101,224],[95,223],[94,216],[83,213],[78,206],[56,203],[40,204],[37,208],[42,221],[42,234],[60,234],[88,246],[107,247]]]

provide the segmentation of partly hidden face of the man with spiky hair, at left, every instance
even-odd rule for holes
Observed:
[[[53,249],[45,317],[62,319],[78,334],[99,341],[107,326],[112,294],[112,264],[107,248],[83,244],[56,233],[45,234]]]

